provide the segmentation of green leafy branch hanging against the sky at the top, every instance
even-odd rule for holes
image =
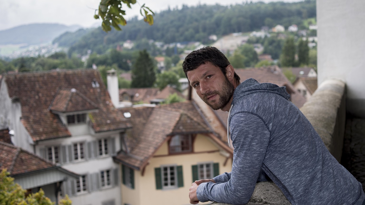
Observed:
[[[123,5],[127,5],[131,8],[131,4],[137,3],[137,0],[101,0],[99,4],[99,9],[95,10],[95,19],[103,20],[101,23],[101,27],[105,32],[111,30],[111,27],[114,27],[116,30],[121,31],[122,29],[119,25],[127,25],[127,21],[124,19],[124,15],[126,15],[126,11],[122,10]],[[143,13],[142,14],[142,10]],[[155,15],[150,8],[146,7],[145,4],[141,6],[140,9],[141,15],[144,17],[145,22],[152,25],[153,24],[153,16]]]

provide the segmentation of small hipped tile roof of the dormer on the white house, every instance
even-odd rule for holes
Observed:
[[[97,105],[75,88],[59,89],[55,94],[50,110],[61,113],[97,109]]]

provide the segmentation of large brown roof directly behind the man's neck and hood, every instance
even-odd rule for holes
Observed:
[[[261,68],[235,69],[237,75],[241,78],[241,82],[248,78],[253,78],[259,83],[273,83],[278,86],[286,86],[290,94],[290,100],[297,107],[302,107],[306,102],[306,98],[297,92],[291,82],[285,77],[281,69],[277,66],[267,66]],[[214,113],[220,119],[220,122],[227,129],[228,112],[222,110],[214,110]],[[227,134],[225,135],[227,137]]]

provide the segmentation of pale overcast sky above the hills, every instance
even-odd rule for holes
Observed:
[[[258,1],[258,0],[253,0]],[[277,0],[261,0],[264,2]],[[301,0],[281,0],[285,2]],[[154,12],[170,8],[181,8],[182,4],[242,4],[242,0],[139,0],[132,5],[132,9],[124,7],[127,13],[126,19],[140,15],[139,8],[144,3]],[[81,25],[91,27],[100,25],[93,18],[95,9],[100,0],[0,0],[0,31],[31,23],[59,23],[65,25]]]

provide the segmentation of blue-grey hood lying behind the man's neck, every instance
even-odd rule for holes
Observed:
[[[258,83],[255,79],[249,78],[239,84],[235,89],[232,105],[234,105],[234,102],[242,96],[254,92],[274,92],[278,95],[283,96],[287,100],[289,100],[290,98],[290,95],[288,94],[287,88],[285,86],[279,87],[276,84],[272,83]]]

